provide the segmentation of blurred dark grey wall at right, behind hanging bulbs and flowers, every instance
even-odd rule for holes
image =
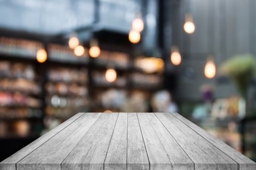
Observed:
[[[236,54],[256,55],[256,0],[173,0],[169,11],[172,23],[172,44],[182,54],[182,64],[171,69],[179,74],[177,94],[180,99],[200,100],[203,84],[216,87],[216,97],[236,94],[232,81],[219,83],[204,76],[209,54],[217,67]],[[191,13],[196,25],[194,34],[183,31],[184,15]],[[171,45],[170,45],[171,46]],[[187,77],[184,70],[192,70]]]

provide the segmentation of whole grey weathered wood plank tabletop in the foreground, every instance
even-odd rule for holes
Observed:
[[[79,113],[0,163],[0,170],[256,170],[256,163],[177,113]]]

